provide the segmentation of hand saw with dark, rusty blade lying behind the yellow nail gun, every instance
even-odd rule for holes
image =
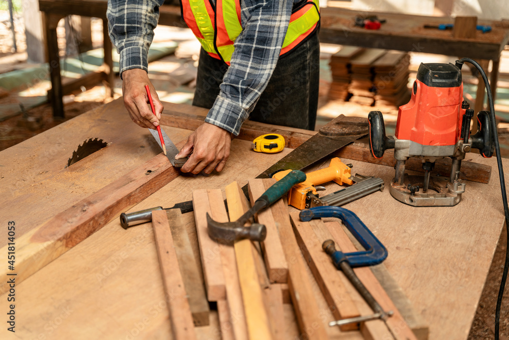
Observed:
[[[324,125],[315,136],[309,138],[256,178],[270,178],[270,175],[277,170],[302,170],[343,146],[366,136],[368,132],[367,118],[339,115]],[[157,132],[155,132],[154,138],[156,140],[159,138]],[[247,184],[242,187],[242,191],[249,199]],[[185,206],[188,211],[192,211],[192,201],[185,201],[180,204]]]

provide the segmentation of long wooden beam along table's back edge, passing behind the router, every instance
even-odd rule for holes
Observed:
[[[164,103],[164,106],[165,108],[169,108],[169,110],[166,109],[165,112],[162,113],[161,124],[181,128],[197,128],[204,122],[205,117],[203,114],[208,112],[206,109],[192,107],[185,104]],[[168,111],[172,113],[169,113]],[[192,112],[195,112],[195,114]],[[251,122],[249,120],[244,122],[240,131],[240,135],[237,138],[248,141],[252,141],[254,138],[263,134],[277,133],[285,138],[287,147],[293,149],[297,148],[316,134],[316,132],[301,129],[293,129],[290,132],[285,132],[285,127],[277,125],[269,126],[268,124]],[[353,142],[336,151],[334,154],[341,158],[381,164],[392,168],[396,164],[396,160],[394,159],[394,150],[385,150],[383,157],[376,159],[371,155],[370,146],[366,142]],[[461,165],[460,178],[474,182],[488,183],[491,176],[491,166],[470,162],[468,160],[471,160],[469,155],[467,155],[467,161],[463,162]],[[448,177],[450,175],[451,163],[452,161],[450,158],[437,160],[433,173]],[[406,170],[424,172],[422,170],[422,162],[419,162],[415,158],[410,158],[407,161],[405,168]]]

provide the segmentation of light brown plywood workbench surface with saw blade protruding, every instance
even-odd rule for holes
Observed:
[[[171,104],[165,107],[171,111]],[[175,142],[191,133],[164,129]],[[64,168],[73,149],[88,138],[102,138],[110,144]],[[16,223],[16,240],[30,236],[31,230],[55,214],[143,165],[159,151],[150,133],[132,123],[122,101],[116,100],[0,152],[2,258],[7,258],[8,221]],[[138,204],[130,211],[172,206],[191,199],[194,189],[224,190],[234,180],[244,185],[290,151],[256,153],[250,150],[249,141],[236,139],[221,173],[179,176],[142,202],[132,202]],[[390,167],[343,161],[352,163],[354,172],[383,178],[386,185],[394,174]],[[502,228],[495,158],[467,154],[466,161],[491,165],[492,176],[489,184],[467,181],[463,199],[455,207],[407,206],[394,200],[388,190],[344,206],[387,247],[384,264],[415,311],[428,322],[430,339],[467,338]],[[507,160],[504,166],[509,167]],[[188,231],[195,244],[195,231]],[[5,290],[5,282],[2,285]],[[316,287],[327,323],[332,315]],[[16,281],[15,292],[16,332],[7,331],[4,323],[3,339],[171,336],[150,224],[124,230],[117,215],[29,278]],[[9,308],[8,294],[0,298],[2,313]],[[285,308],[287,338],[293,338],[297,335],[295,316],[291,305]],[[199,338],[218,338],[217,313],[211,313],[211,326],[195,329]],[[361,338],[358,332],[340,333],[335,327],[328,331],[331,338]]]

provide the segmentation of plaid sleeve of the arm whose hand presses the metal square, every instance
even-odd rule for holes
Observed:
[[[243,31],[206,122],[238,136],[267,87],[292,14],[292,0],[243,0]],[[245,23],[245,24],[244,24]]]

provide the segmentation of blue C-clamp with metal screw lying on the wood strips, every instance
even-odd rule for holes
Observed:
[[[370,316],[363,316],[351,319],[332,321],[329,326],[341,326],[349,323],[358,323],[374,319],[387,320],[392,315],[392,311],[384,311],[382,306],[375,300],[373,295],[366,289],[364,284],[359,280],[352,267],[374,266],[381,263],[387,258],[387,249],[376,238],[370,229],[348,209],[338,206],[317,206],[305,209],[299,214],[300,220],[307,222],[315,218],[336,217],[343,221],[345,226],[350,230],[352,235],[364,247],[364,251],[356,251],[344,253],[336,250],[334,241],[326,240],[322,244],[323,250],[332,258],[334,266],[343,271],[348,280],[355,287],[357,292],[364,298],[367,304],[375,312]]]

